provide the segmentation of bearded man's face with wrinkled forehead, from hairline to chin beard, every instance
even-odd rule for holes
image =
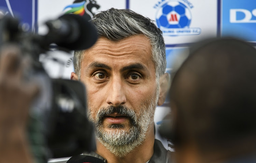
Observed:
[[[89,119],[104,146],[135,147],[145,139],[159,91],[146,36],[118,42],[100,37],[84,54],[80,80],[86,85]]]

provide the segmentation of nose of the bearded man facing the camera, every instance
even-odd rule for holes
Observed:
[[[108,97],[106,102],[113,106],[126,103],[125,90],[121,79],[113,79],[110,83]]]

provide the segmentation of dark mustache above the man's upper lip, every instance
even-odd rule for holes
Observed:
[[[132,122],[132,125],[136,125],[137,124],[137,116],[136,116],[136,113],[126,107],[126,106],[122,106],[122,105],[119,105],[119,106],[109,106],[109,107],[103,107],[101,108],[98,113],[97,113],[97,116],[96,116],[96,121],[97,121],[97,124],[101,124],[102,123],[102,119],[103,119],[103,116],[106,116],[106,115],[109,115],[109,114],[113,114],[113,113],[118,113],[118,114],[121,114],[121,115],[124,115],[124,116],[127,116],[131,119],[131,122]]]

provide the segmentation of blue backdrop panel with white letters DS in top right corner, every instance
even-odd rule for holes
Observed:
[[[221,35],[256,42],[256,1],[222,0]]]

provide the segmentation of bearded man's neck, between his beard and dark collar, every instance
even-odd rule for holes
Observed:
[[[154,153],[154,125],[150,127],[149,131],[146,134],[145,140],[134,148],[126,156],[119,158],[111,153],[106,147],[104,147],[100,142],[97,141],[97,150],[96,153],[102,156],[107,160],[107,163],[146,163],[153,156]]]

